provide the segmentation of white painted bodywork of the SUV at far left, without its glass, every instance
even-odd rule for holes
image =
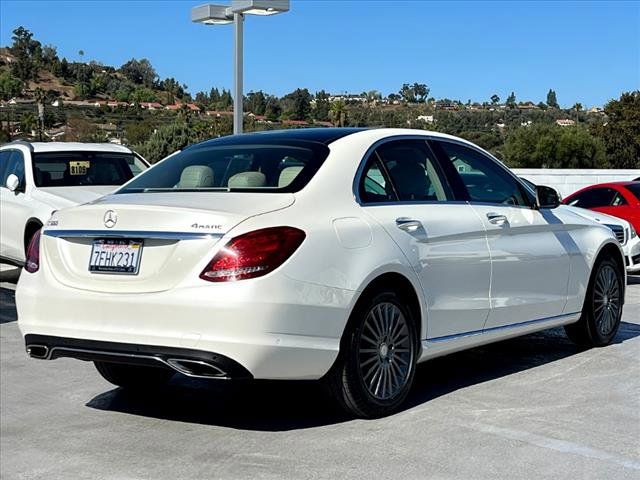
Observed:
[[[33,153],[39,152],[118,152],[133,153],[127,147],[102,143],[75,142],[11,142],[0,152],[15,150],[24,159],[25,184],[21,191],[11,191],[0,185],[0,258],[22,264],[25,257],[25,234],[30,224],[44,225],[51,213],[72,205],[90,202],[115,190],[118,185],[74,187],[37,187],[33,178]],[[146,163],[146,162],[145,162]],[[0,171],[3,166],[0,165]]]

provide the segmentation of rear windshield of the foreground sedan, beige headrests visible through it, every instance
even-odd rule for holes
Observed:
[[[204,145],[167,157],[117,193],[296,192],[327,156],[324,145]]]

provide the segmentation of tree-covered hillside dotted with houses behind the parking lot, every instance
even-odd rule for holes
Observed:
[[[134,146],[151,161],[205,138],[232,132],[233,97],[212,87],[191,93],[161,79],[148,59],[119,67],[78,51],[60,58],[23,27],[0,48],[0,140],[109,141]],[[215,79],[212,79],[215,84]],[[544,99],[493,94],[467,101],[436,98],[425,83],[382,94],[263,91],[244,97],[245,130],[330,126],[409,127],[467,138],[512,166],[640,167],[640,92],[604,106],[561,107]],[[623,147],[620,148],[620,145]]]

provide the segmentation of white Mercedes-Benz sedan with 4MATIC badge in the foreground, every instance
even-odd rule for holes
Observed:
[[[16,301],[31,357],[125,388],[322,379],[376,417],[439,355],[561,325],[607,345],[625,285],[609,228],[467,141],[308,129],[202,142],[56,212]]]

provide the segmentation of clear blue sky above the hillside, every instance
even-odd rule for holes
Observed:
[[[206,1],[206,0],[205,0]],[[0,44],[23,25],[78,59],[148,58],[189,91],[232,85],[233,28],[192,24],[204,1],[0,1]],[[220,3],[220,2],[219,2]],[[222,2],[224,3],[224,2]],[[640,88],[640,2],[292,0],[245,23],[245,91],[396,92],[602,105]]]

